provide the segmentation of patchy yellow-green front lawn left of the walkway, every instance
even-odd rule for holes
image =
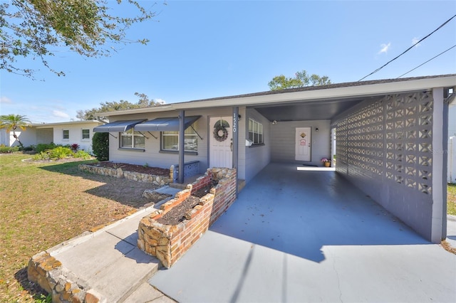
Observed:
[[[0,154],[0,302],[33,302],[30,257],[136,211],[151,184],[88,174],[73,162],[31,162]]]

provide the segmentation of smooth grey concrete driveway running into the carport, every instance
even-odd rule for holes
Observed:
[[[150,284],[179,302],[456,302],[456,255],[307,169],[266,166]]]

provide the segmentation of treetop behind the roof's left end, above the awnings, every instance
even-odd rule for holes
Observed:
[[[135,108],[144,108],[161,105],[160,102],[155,100],[150,100],[147,95],[135,92],[135,96],[138,96],[140,100],[137,103],[131,103],[125,100],[120,100],[119,102],[101,102],[100,107],[94,107],[91,110],[78,110],[76,118],[81,120],[91,120],[98,117],[100,112],[114,112],[116,110],[134,110]],[[102,117],[103,118],[103,117]]]

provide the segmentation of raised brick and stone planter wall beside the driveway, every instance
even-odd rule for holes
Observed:
[[[185,201],[191,193],[211,184],[213,179],[219,184],[200,198],[197,206],[185,213],[185,220],[177,225],[157,222],[158,218]],[[227,211],[235,199],[236,170],[207,169],[204,176],[189,184],[187,189],[177,193],[172,200],[163,203],[160,210],[142,218],[138,228],[138,248],[157,257],[163,266],[170,268]]]

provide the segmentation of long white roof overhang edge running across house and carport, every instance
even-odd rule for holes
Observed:
[[[217,97],[206,100],[172,103],[164,107],[145,107],[135,110],[105,112],[100,116],[118,116],[163,112],[177,110],[197,110],[213,107],[264,107],[271,105],[291,105],[299,102],[307,105],[315,102],[332,102],[342,100],[363,100],[368,97],[389,95],[402,92],[430,90],[435,87],[455,87],[456,74],[437,75],[418,78],[401,78],[389,80],[372,80],[354,83],[338,83],[314,87],[300,87],[288,90],[258,92],[247,95]]]

